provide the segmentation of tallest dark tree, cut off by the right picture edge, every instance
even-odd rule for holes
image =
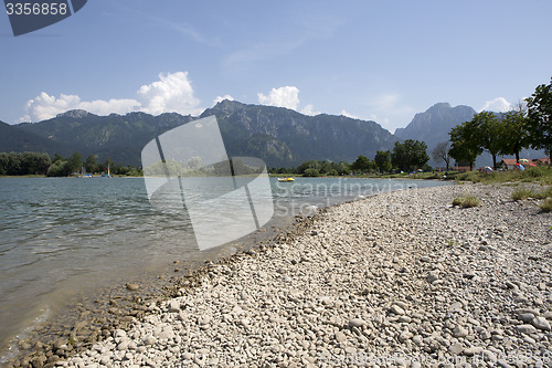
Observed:
[[[527,98],[529,144],[532,148],[544,149],[552,159],[552,78],[550,84],[537,86]]]

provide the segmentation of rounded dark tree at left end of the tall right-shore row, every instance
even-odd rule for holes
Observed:
[[[453,146],[448,154],[457,162],[467,161],[469,162],[469,169],[474,169],[474,164],[476,162],[477,156],[481,155],[482,149],[479,147],[476,139],[476,128],[474,127],[473,120],[465,122],[460,125],[455,126],[450,129],[450,143]]]

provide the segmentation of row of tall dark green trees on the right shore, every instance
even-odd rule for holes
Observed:
[[[531,97],[519,102],[506,114],[481,112],[469,122],[454,127],[450,144],[437,146],[434,157],[445,159],[448,156],[457,162],[466,162],[470,169],[484,151],[492,156],[492,166],[497,169],[498,155],[516,155],[523,148],[544,149],[552,155],[552,78],[551,83],[537,86]]]

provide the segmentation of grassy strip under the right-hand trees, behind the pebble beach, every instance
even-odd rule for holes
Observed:
[[[537,182],[540,185],[552,185],[552,167],[535,166],[524,171],[508,170],[493,172],[466,171],[453,174],[452,177],[457,181],[471,181],[482,183],[500,182]]]

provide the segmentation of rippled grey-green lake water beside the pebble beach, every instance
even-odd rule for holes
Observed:
[[[288,223],[310,204],[443,185],[355,178],[282,183],[270,178],[274,219]],[[23,338],[76,291],[155,272],[174,259],[205,256],[187,215],[150,204],[144,178],[0,178],[0,357],[10,354],[10,341]]]

